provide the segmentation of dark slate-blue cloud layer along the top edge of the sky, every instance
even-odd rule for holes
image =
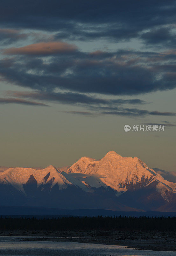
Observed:
[[[143,30],[174,24],[175,18],[173,0],[44,0],[42,3],[39,0],[2,0],[0,3],[0,24],[3,26],[56,31],[59,40],[129,40],[140,37]],[[154,32],[142,38],[156,43],[156,36],[150,33]],[[165,34],[168,36],[167,32]],[[163,41],[163,36],[160,39]]]

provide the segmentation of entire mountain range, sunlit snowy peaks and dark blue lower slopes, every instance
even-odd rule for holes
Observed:
[[[67,168],[2,168],[0,205],[176,212],[174,173],[108,152]]]

